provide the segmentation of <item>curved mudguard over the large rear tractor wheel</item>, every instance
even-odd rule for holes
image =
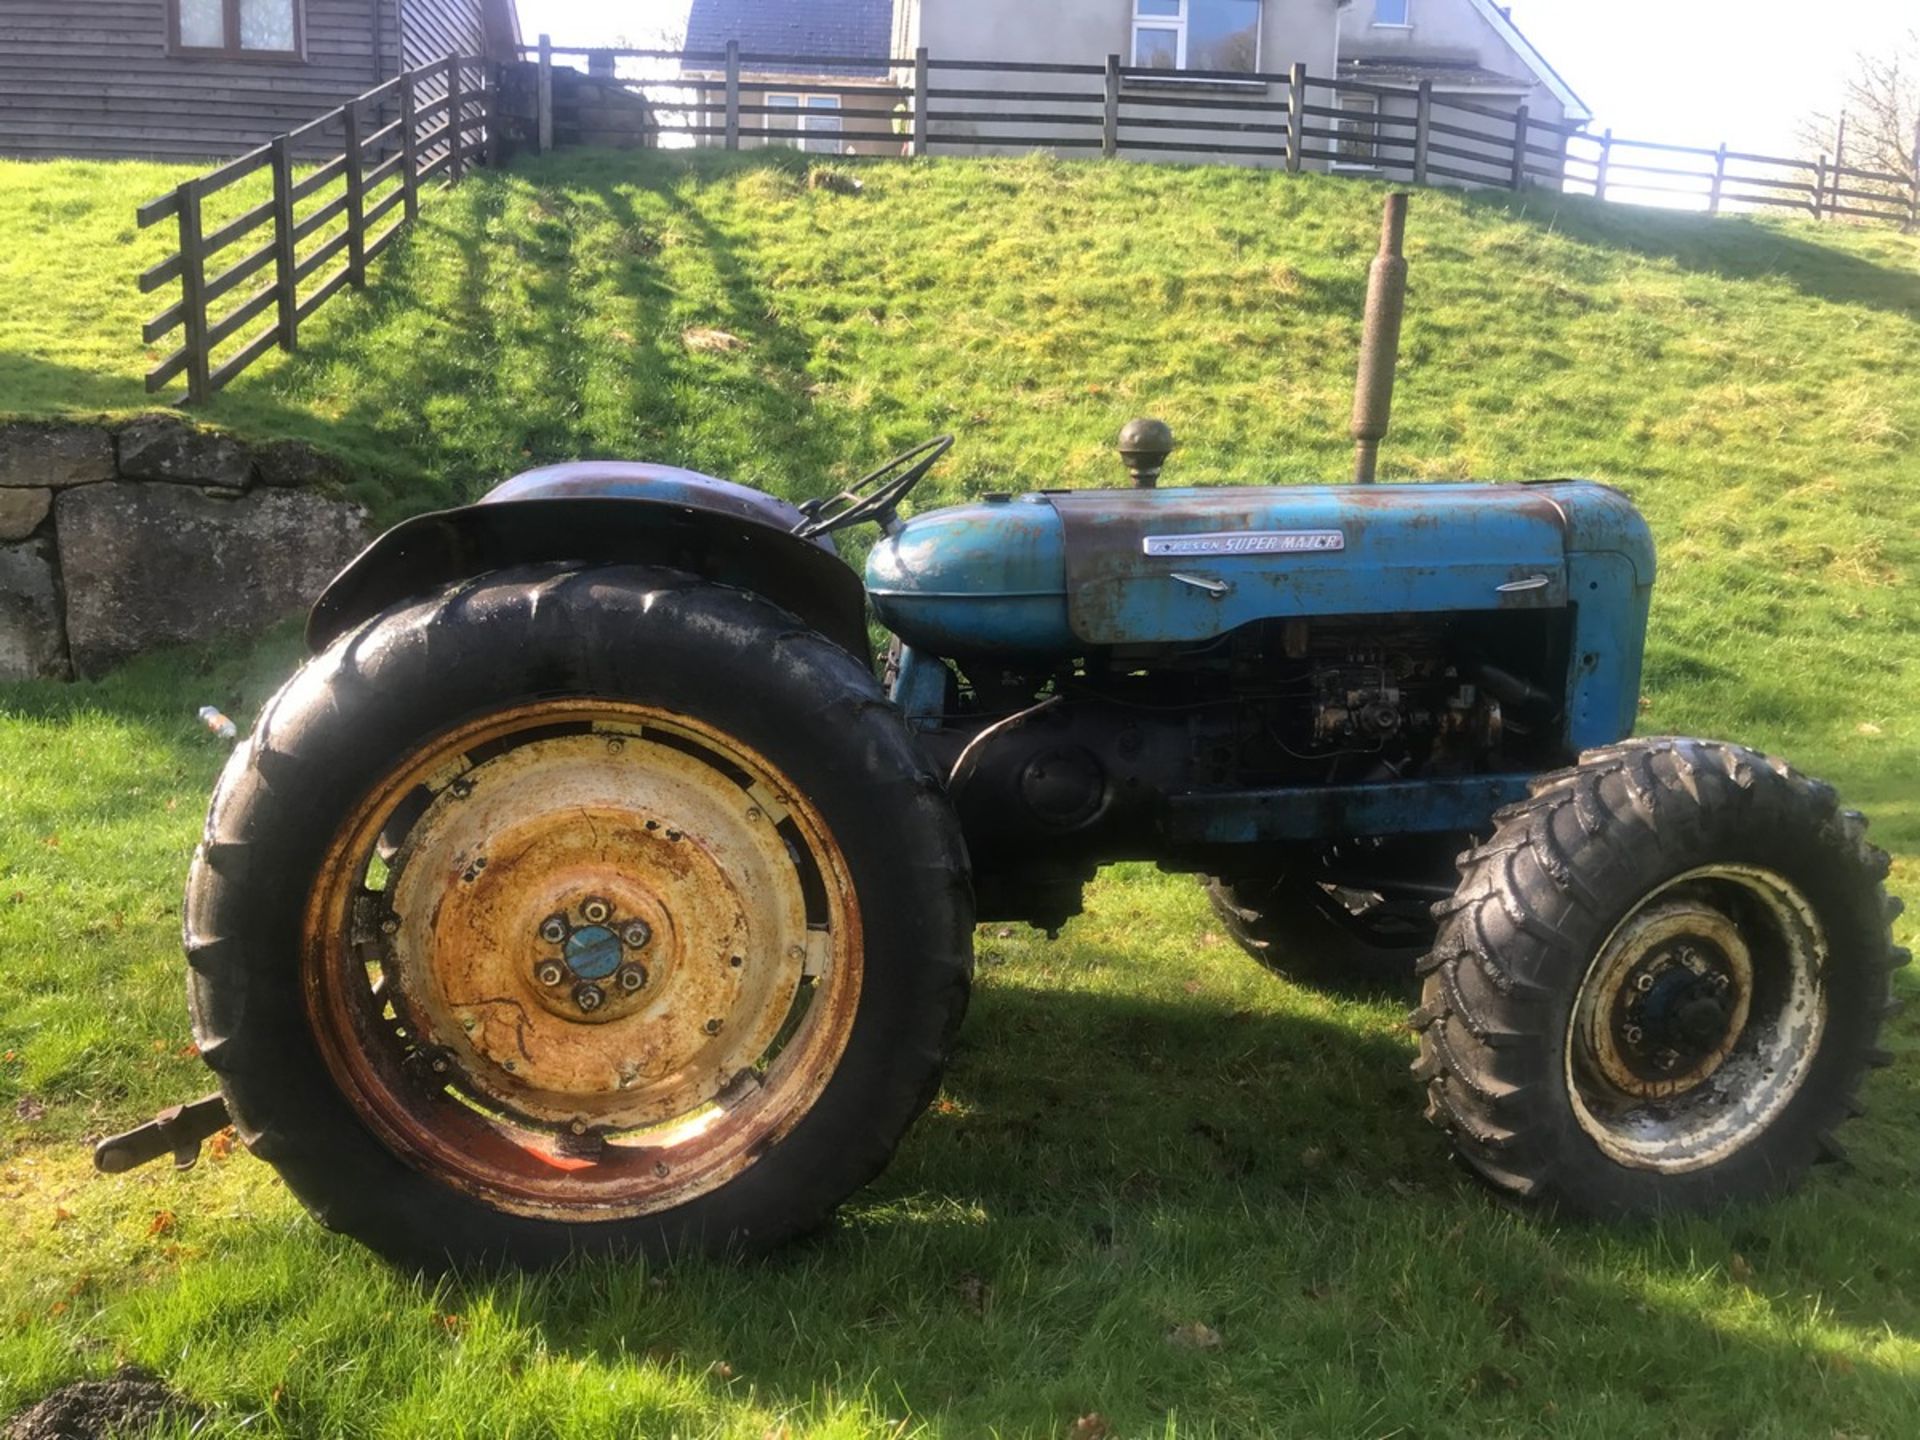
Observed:
[[[307,645],[321,651],[399,601],[486,570],[584,561],[668,564],[753,589],[872,659],[860,578],[831,540],[793,536],[803,518],[774,495],[668,465],[549,465],[374,540],[313,603]]]

